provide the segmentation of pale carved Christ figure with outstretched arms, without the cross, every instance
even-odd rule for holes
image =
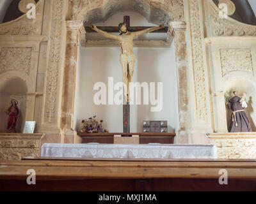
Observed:
[[[131,82],[133,73],[134,73],[134,62],[135,56],[132,51],[133,49],[133,39],[136,36],[140,36],[141,34],[150,33],[152,31],[157,31],[158,29],[163,29],[163,25],[159,25],[158,27],[150,27],[148,29],[144,29],[142,31],[130,32],[128,31],[128,26],[125,22],[120,23],[118,25],[118,30],[120,32],[119,36],[114,34],[110,34],[106,31],[102,31],[98,29],[95,25],[90,25],[90,28],[96,31],[102,36],[106,38],[111,38],[120,43],[121,53],[120,53],[120,63],[122,65],[123,71],[123,82],[124,82],[124,95],[126,96],[126,101],[129,101],[129,82]]]

